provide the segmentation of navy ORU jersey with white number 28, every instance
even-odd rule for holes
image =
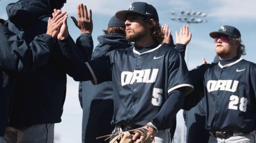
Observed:
[[[235,57],[229,62],[204,64],[190,74],[193,83],[198,81],[195,91],[198,85],[204,85],[207,130],[256,129],[256,64]]]

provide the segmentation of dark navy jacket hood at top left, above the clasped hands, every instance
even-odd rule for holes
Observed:
[[[54,8],[60,9],[66,0],[19,0],[6,6],[10,22],[26,29],[43,17],[50,17]]]

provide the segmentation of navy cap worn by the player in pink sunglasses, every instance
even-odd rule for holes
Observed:
[[[211,32],[210,36],[212,38],[215,38],[217,35],[220,35],[220,34],[225,34],[225,35],[228,35],[228,36],[233,37],[233,38],[240,38],[241,37],[241,34],[240,34],[239,30],[236,29],[235,27],[229,26],[229,25],[221,26],[218,31]]]

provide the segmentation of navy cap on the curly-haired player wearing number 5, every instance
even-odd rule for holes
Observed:
[[[150,19],[154,19],[155,21],[159,21],[158,14],[156,12],[156,8],[152,5],[145,2],[133,2],[131,3],[128,10],[121,10],[116,12],[116,17],[121,20],[126,19],[126,15],[128,13],[135,13],[138,15],[142,15],[144,17],[149,17]]]

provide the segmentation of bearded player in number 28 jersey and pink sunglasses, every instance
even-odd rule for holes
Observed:
[[[255,143],[256,64],[241,58],[245,46],[235,27],[224,25],[209,35],[220,62],[190,71],[195,90],[186,96],[183,108],[190,109],[191,101],[205,96],[209,143]]]

